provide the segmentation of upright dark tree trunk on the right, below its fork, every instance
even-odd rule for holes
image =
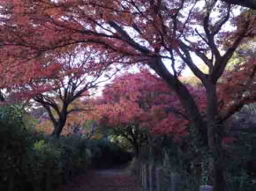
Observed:
[[[218,113],[216,85],[207,84],[207,138],[212,154],[214,191],[225,190],[224,153],[222,150],[223,125]]]

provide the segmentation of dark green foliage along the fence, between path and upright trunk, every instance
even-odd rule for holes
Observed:
[[[143,148],[142,164],[162,167],[162,190],[168,190],[172,173],[181,176],[182,191],[198,191],[200,184],[205,183],[203,177],[202,151],[193,148],[189,137],[173,141],[171,136],[154,137],[154,146]]]

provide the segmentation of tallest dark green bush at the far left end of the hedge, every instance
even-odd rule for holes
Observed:
[[[14,190],[22,177],[22,162],[33,138],[19,106],[0,107],[0,190]]]

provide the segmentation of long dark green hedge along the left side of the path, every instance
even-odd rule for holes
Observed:
[[[111,167],[131,158],[107,141],[43,136],[26,127],[23,114],[19,107],[0,107],[0,190],[52,191],[90,167]]]

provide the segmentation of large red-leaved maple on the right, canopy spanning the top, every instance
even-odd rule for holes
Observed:
[[[124,64],[147,64],[176,92],[197,135],[207,129],[214,190],[225,189],[223,121],[246,101],[242,93],[242,97],[232,98],[225,105],[229,108],[221,111],[217,84],[239,44],[255,35],[253,11],[245,10],[236,17],[231,14],[232,5],[215,0],[4,0],[0,6],[0,39],[4,58],[8,58],[4,61],[8,62],[7,69],[10,61],[17,58],[10,56],[12,51],[19,51],[21,58],[24,50],[31,53],[34,63],[40,61],[41,55],[76,44],[101,50],[102,54],[109,54],[109,59]],[[236,30],[228,30],[224,27],[227,25],[235,26]],[[193,55],[206,64],[207,73],[198,68]],[[14,61],[25,64],[22,59]],[[245,64],[253,63],[252,60]],[[192,92],[178,78],[184,67],[192,70],[206,90],[206,114],[201,114]],[[253,70],[250,76],[251,83]]]

